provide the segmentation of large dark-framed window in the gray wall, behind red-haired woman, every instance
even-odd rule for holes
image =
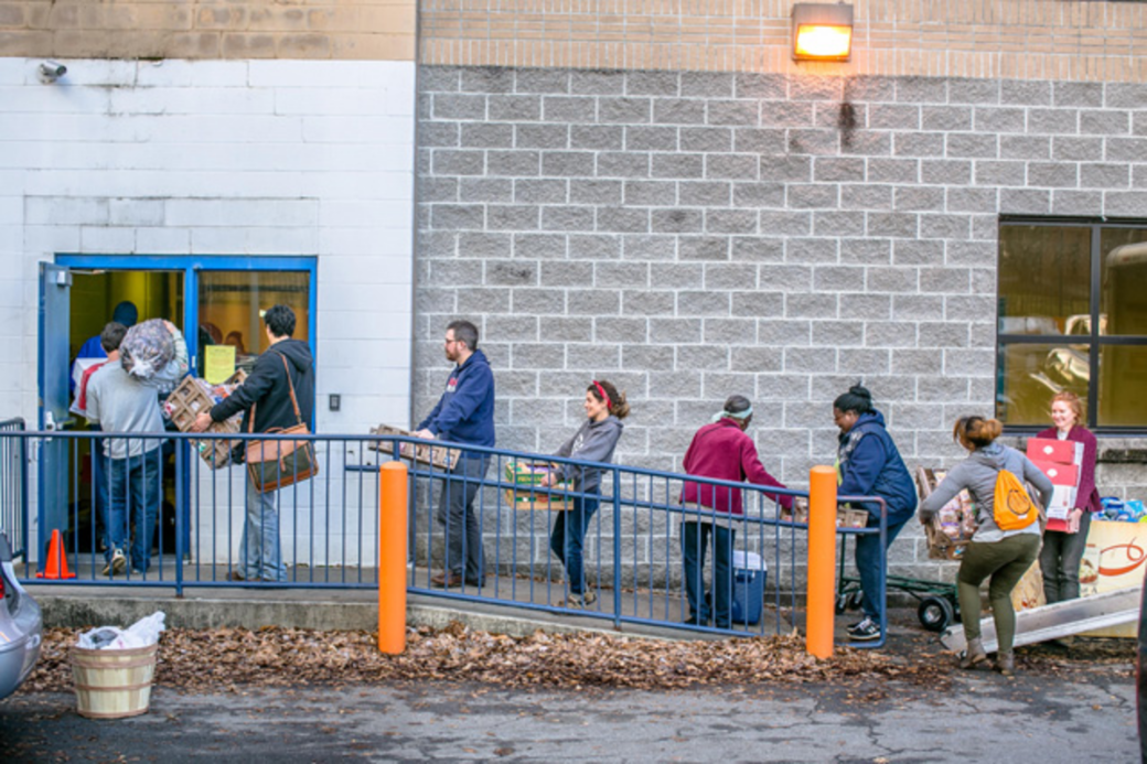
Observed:
[[[1071,390],[1086,424],[1147,430],[1147,224],[1000,226],[997,416],[1047,427]]]

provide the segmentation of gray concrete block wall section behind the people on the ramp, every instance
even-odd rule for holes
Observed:
[[[555,449],[606,377],[633,406],[618,460],[674,469],[740,392],[766,468],[804,484],[863,377],[910,467],[950,463],[951,422],[992,408],[999,215],[1147,218],[1144,85],[420,81],[415,411],[445,381],[445,323],[469,317],[506,447]],[[935,575],[918,537],[892,558]]]

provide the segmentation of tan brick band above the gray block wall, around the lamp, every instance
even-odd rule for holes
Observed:
[[[424,64],[1147,81],[1147,3],[853,2],[852,60],[796,64],[790,0],[422,0]]]

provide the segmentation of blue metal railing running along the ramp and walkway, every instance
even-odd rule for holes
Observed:
[[[23,496],[22,522],[28,517],[28,458],[39,453],[37,445],[48,439],[62,439],[67,444],[68,463],[54,468],[52,474],[60,480],[69,480],[72,486],[68,507],[68,527],[62,528],[67,551],[77,578],[69,584],[80,585],[127,585],[174,587],[181,594],[185,588],[201,586],[250,586],[255,582],[231,580],[235,572],[250,570],[241,568],[241,537],[245,516],[258,501],[248,496],[245,470],[212,463],[196,455],[200,446],[210,438],[203,435],[165,432],[162,435],[106,434],[85,431],[3,432],[5,442],[18,442],[24,469],[19,474]],[[109,551],[101,549],[101,539],[107,533],[99,529],[106,512],[99,509],[102,497],[95,490],[94,481],[85,481],[94,475],[96,461],[103,461],[106,470],[122,468],[122,462],[107,460],[99,450],[92,452],[92,444],[101,438],[104,444],[135,443],[142,450],[157,450],[162,458],[158,471],[140,470],[132,480],[158,478],[163,500],[156,509],[158,533],[146,528],[147,536],[155,536],[151,548],[156,564],[148,570],[133,571],[130,566],[123,574],[109,567],[104,571]],[[791,631],[801,603],[798,570],[804,555],[798,548],[805,543],[806,525],[781,519],[773,499],[780,497],[807,497],[806,491],[758,486],[747,483],[719,481],[688,476],[624,465],[600,465],[575,459],[501,449],[426,442],[413,437],[392,435],[309,435],[267,436],[236,434],[231,442],[258,441],[310,441],[315,449],[319,474],[309,481],[279,491],[274,512],[279,520],[282,561],[288,574],[282,582],[258,582],[271,587],[374,587],[377,585],[377,535],[385,532],[379,528],[379,468],[396,457],[403,444],[428,445],[436,451],[448,447],[463,449],[467,454],[489,460],[483,475],[466,478],[453,471],[445,471],[422,462],[411,462],[409,469],[409,528],[411,591],[455,600],[513,605],[520,608],[563,614],[578,614],[590,618],[611,622],[615,627],[625,623],[666,625],[673,624],[696,631],[728,634],[765,634]],[[379,450],[380,444],[383,450]],[[116,447],[116,446],[111,446]],[[58,453],[60,449],[52,450]],[[211,450],[208,449],[210,452]],[[173,453],[172,453],[173,452]],[[226,460],[226,449],[218,453]],[[601,475],[600,497],[577,490],[565,490],[549,494],[543,489],[525,488],[506,477],[506,466],[514,461],[545,461],[568,465],[575,469],[598,470]],[[218,466],[218,465],[217,465]],[[7,477],[6,473],[6,477]],[[109,481],[110,482],[110,481]],[[704,494],[711,493],[709,506],[682,506],[680,496],[685,483],[695,483]],[[6,480],[7,486],[7,480]],[[479,544],[485,553],[485,568],[481,575],[485,580],[463,580],[460,586],[444,588],[436,585],[434,576],[444,569],[458,568],[458,560],[448,559],[447,536],[457,530],[458,519],[448,514],[439,519],[442,494],[467,488],[475,490],[474,520],[477,523]],[[716,500],[718,489],[733,489],[742,497],[743,512],[736,514],[732,492]],[[6,489],[7,490],[7,489]],[[523,493],[530,501],[515,501],[513,492]],[[130,493],[130,492],[127,492]],[[138,499],[125,493],[124,504],[128,524],[135,516]],[[540,508],[538,499],[547,496],[567,502],[599,498],[600,508],[592,515],[585,536],[585,588],[592,594],[584,606],[571,607],[568,595],[570,582],[564,575],[563,561],[549,551],[549,535],[559,520],[564,525],[572,509],[553,506]],[[871,497],[841,497],[841,501],[880,501]],[[562,506],[557,502],[559,506]],[[533,508],[523,508],[533,507]],[[881,502],[882,506],[882,502]],[[259,516],[258,510],[253,510]],[[45,513],[40,508],[41,523],[37,527],[38,547],[44,548],[49,528],[44,527]],[[880,523],[869,529],[842,529],[844,535],[879,533],[887,537],[887,512],[881,509]],[[139,524],[150,525],[147,515],[135,517]],[[709,527],[705,545],[705,561],[695,583],[703,590],[705,579],[709,593],[724,587],[724,597],[712,597],[713,606],[735,602],[740,598],[740,614],[732,613],[731,623],[713,625],[686,625],[681,622],[689,615],[686,579],[684,575],[684,552],[681,532],[686,524]],[[26,529],[24,522],[23,528]],[[728,531],[727,544],[718,549],[718,532]],[[150,531],[150,532],[149,532]],[[702,533],[704,535],[704,533]],[[133,537],[134,538],[134,537]],[[473,537],[471,537],[473,538]],[[25,548],[26,548],[25,544]],[[881,548],[884,544],[881,544]],[[463,560],[471,555],[473,544],[462,535],[460,545]],[[700,556],[701,545],[693,549]],[[743,555],[742,561],[759,555],[762,567],[752,570],[738,568],[725,582],[715,585],[713,571],[717,552]],[[31,575],[31,563],[25,555],[25,576]],[[42,559],[39,555],[40,567]],[[481,556],[481,555],[475,555]],[[884,601],[884,564],[881,564],[881,591],[877,597]],[[746,563],[747,564],[747,563]],[[463,568],[465,572],[465,568]],[[752,574],[760,574],[759,588]],[[743,580],[742,580],[743,579]],[[42,582],[39,582],[42,583]],[[759,617],[756,598],[763,601]],[[701,605],[701,593],[696,592],[695,605]],[[712,608],[709,608],[712,609]],[[881,608],[884,613],[884,608]],[[724,616],[724,613],[715,613]],[[738,617],[740,616],[740,617]],[[887,633],[887,615],[881,624]],[[879,647],[879,641],[865,647]]]

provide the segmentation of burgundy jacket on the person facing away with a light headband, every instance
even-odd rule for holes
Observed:
[[[741,431],[740,426],[727,416],[712,424],[705,424],[693,436],[689,450],[685,452],[685,471],[701,477],[723,481],[748,481],[757,485],[785,488],[785,484],[765,471],[757,457],[752,438]],[[782,507],[793,506],[793,497],[766,493]],[[724,485],[705,485],[686,481],[681,501],[709,507],[716,512],[734,515],[744,514],[741,491]]]

